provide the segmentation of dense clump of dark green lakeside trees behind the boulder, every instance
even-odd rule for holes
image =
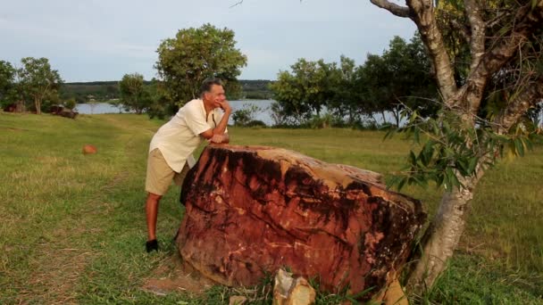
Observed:
[[[425,117],[439,108],[435,78],[418,36],[409,43],[394,37],[382,55],[368,54],[360,66],[346,56],[339,63],[299,59],[291,71],[280,71],[271,88],[277,100],[272,111],[297,124],[326,109],[349,125],[363,115],[389,111],[399,125],[405,107]]]

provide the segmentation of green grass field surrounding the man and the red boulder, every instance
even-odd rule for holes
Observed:
[[[141,290],[177,255],[171,238],[183,210],[171,187],[161,202],[163,251],[147,255],[146,152],[163,122],[133,114],[0,113],[0,303],[228,303],[240,293],[216,286],[204,295]],[[386,173],[410,144],[350,129],[230,128],[232,144],[288,148],[322,161]],[[83,155],[84,144],[98,148]],[[543,302],[543,145],[500,163],[480,182],[462,245],[422,303]],[[201,149],[200,149],[201,151]],[[431,213],[441,192],[407,188]],[[246,291],[257,299],[255,291]],[[243,294],[243,293],[242,293]],[[322,294],[320,303],[340,296]],[[269,303],[270,301],[255,301]]]

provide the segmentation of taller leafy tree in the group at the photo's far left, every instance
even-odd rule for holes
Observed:
[[[58,100],[58,89],[63,79],[57,70],[51,69],[49,60],[44,57],[25,57],[21,63],[22,67],[18,70],[21,92],[34,102],[36,113],[41,114],[45,99]]]

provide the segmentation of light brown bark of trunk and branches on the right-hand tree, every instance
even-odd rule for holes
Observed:
[[[503,69],[514,54],[529,39],[530,35],[543,26],[543,0],[530,1],[520,7],[511,20],[511,29],[497,37],[485,50],[489,37],[485,35],[488,24],[481,17],[480,2],[465,0],[465,14],[470,22],[469,44],[471,51],[470,72],[463,87],[455,84],[454,67],[447,55],[443,37],[438,28],[433,7],[433,0],[406,0],[406,8],[391,4],[388,0],[372,0],[373,4],[400,17],[408,17],[419,29],[422,42],[427,47],[430,59],[435,67],[439,91],[448,108],[461,115],[464,121],[473,126],[474,115],[480,108],[480,102],[489,78]],[[406,13],[408,12],[408,13]],[[497,117],[495,123],[500,133],[505,133],[514,122],[533,104],[543,97],[543,85],[526,86],[505,111]],[[483,157],[484,158],[484,157]],[[483,159],[481,158],[481,160]],[[459,177],[464,185],[445,194],[439,204],[439,210],[422,238],[422,256],[416,261],[408,276],[407,285],[414,293],[421,293],[430,288],[447,267],[447,260],[452,257],[460,237],[464,233],[465,220],[473,192],[484,169],[478,166],[474,177]]]

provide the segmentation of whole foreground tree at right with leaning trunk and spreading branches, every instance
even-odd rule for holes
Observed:
[[[440,123],[433,124],[432,136],[437,137],[423,145],[422,152],[429,153],[419,157],[411,153],[412,177],[418,172],[416,164],[430,164],[438,170],[432,174],[438,183],[449,186],[422,238],[421,260],[408,278],[408,285],[420,291],[434,284],[458,245],[480,177],[503,147],[494,141],[503,137],[494,135],[517,132],[515,126],[522,115],[543,98],[541,71],[531,64],[540,62],[543,0],[439,1],[438,7],[433,0],[406,0],[405,6],[388,0],[371,1],[414,21],[447,110]],[[453,9],[444,7],[447,4],[453,4]],[[447,18],[449,22],[442,22]],[[451,32],[458,33],[453,44],[444,36]],[[455,47],[447,48],[447,44]],[[455,64],[457,58],[464,58],[464,64]],[[497,80],[507,84],[502,87],[504,103],[492,117],[481,121],[478,114],[485,94],[489,84]],[[512,152],[522,154],[525,142],[521,137],[513,140]],[[467,163],[462,157],[466,155],[472,156]]]

